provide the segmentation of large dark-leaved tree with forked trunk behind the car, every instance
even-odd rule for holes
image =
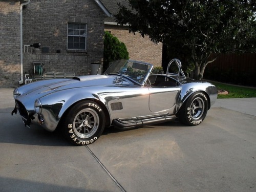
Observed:
[[[130,32],[162,42],[170,56],[185,60],[202,79],[211,53],[255,51],[254,0],[127,0],[116,22]]]

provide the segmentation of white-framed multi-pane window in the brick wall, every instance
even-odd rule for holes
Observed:
[[[71,28],[70,25],[73,24],[73,27]],[[75,28],[79,25],[79,29]],[[85,26],[85,29],[81,29],[81,25]],[[73,31],[72,31],[73,30]],[[81,34],[81,31],[85,30],[84,33]],[[79,38],[77,42],[73,40],[73,44],[78,44],[78,47],[72,46],[71,48],[69,47],[69,38]],[[80,45],[83,43],[83,41],[80,41],[80,37],[84,38],[84,48],[79,48]],[[67,25],[67,50],[79,50],[79,51],[86,51],[87,50],[87,24],[84,23],[72,23],[69,22]]]

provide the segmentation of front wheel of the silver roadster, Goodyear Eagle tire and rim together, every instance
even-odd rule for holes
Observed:
[[[105,114],[96,102],[78,102],[66,114],[62,125],[65,136],[71,143],[88,145],[102,134]]]

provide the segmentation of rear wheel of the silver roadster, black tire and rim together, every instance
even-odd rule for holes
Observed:
[[[177,117],[186,125],[195,126],[203,122],[208,111],[208,98],[202,92],[192,94],[181,106]]]

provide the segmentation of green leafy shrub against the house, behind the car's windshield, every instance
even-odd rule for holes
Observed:
[[[129,59],[129,52],[123,42],[105,31],[103,72],[108,69],[110,63],[118,59]]]

